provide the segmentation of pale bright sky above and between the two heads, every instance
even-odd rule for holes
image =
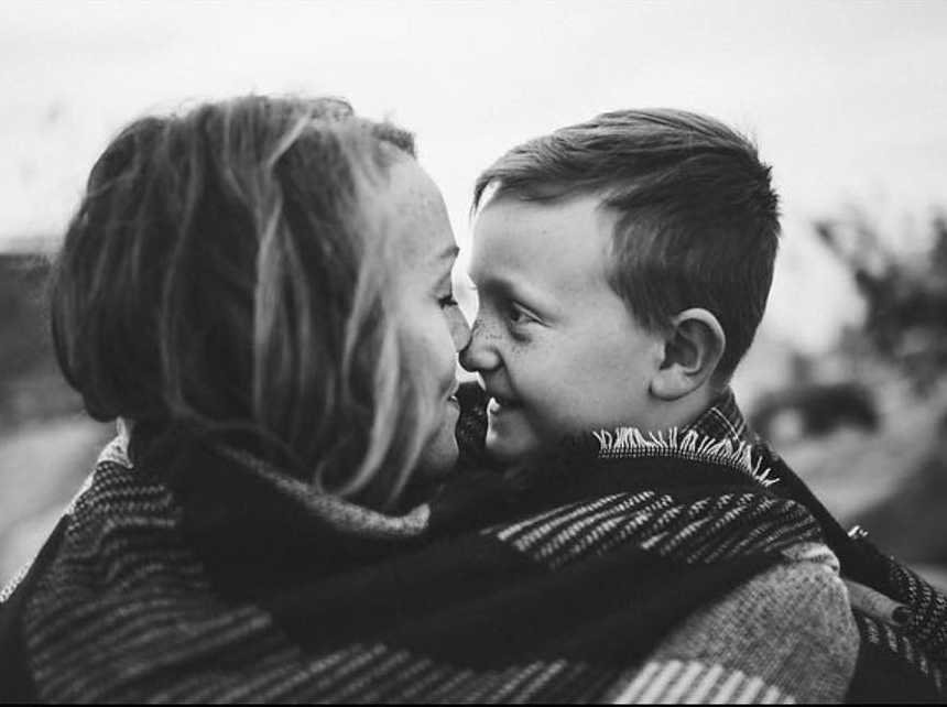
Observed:
[[[860,205],[900,227],[947,205],[947,2],[8,0],[2,14],[0,249],[62,232],[132,118],[248,91],[340,95],[415,131],[461,248],[472,182],[513,144],[622,107],[721,118],[755,135],[783,197],[764,326],[809,349],[860,316],[812,219]]]

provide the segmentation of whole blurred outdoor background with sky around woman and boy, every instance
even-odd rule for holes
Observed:
[[[95,159],[150,111],[330,94],[418,137],[464,275],[474,180],[610,109],[754,137],[784,236],[734,381],[846,523],[947,587],[947,3],[17,2],[0,7],[0,583],[112,428],[52,355],[45,279]]]

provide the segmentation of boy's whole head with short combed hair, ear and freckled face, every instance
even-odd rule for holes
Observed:
[[[765,306],[776,205],[752,145],[676,111],[609,113],[490,167],[462,359],[492,399],[488,449],[516,459],[592,429],[687,425],[714,402],[744,437],[727,382]]]

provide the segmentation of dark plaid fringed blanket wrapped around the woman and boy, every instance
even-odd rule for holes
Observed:
[[[0,607],[0,694],[772,703],[851,693],[861,623],[818,520],[785,498],[786,470],[695,427],[613,431],[598,444],[601,458],[551,460],[512,487],[467,475],[399,518],[314,497],[240,453],[195,445],[167,467],[132,468],[113,447]]]

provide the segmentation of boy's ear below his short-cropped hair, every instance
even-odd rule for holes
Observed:
[[[707,309],[685,309],[671,324],[664,360],[651,380],[651,393],[665,401],[700,388],[717,370],[727,347],[723,327]]]

